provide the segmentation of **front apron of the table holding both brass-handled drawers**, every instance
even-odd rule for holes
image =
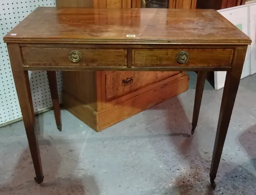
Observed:
[[[214,45],[35,43],[19,47],[24,70],[54,71],[227,71],[236,52],[236,46]]]

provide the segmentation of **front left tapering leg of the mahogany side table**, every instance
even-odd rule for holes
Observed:
[[[20,109],[23,117],[23,122],[26,129],[26,135],[29,142],[29,149],[32,156],[32,161],[35,168],[35,181],[40,184],[44,180],[41,157],[38,145],[37,132],[35,128],[35,115],[32,103],[32,95],[29,85],[28,71],[24,71],[22,67],[22,58],[20,47],[16,43],[8,44],[10,61],[12,64],[12,73],[17,90]]]

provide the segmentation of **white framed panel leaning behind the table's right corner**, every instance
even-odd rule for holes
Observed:
[[[219,13],[233,23],[237,28],[249,36],[249,8],[250,6],[238,6],[230,9],[219,10]],[[249,46],[250,47],[250,46]],[[244,61],[241,78],[250,75],[250,48],[248,47]],[[226,72],[214,72],[215,89],[224,87]]]

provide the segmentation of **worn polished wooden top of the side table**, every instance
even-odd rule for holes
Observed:
[[[135,35],[135,37],[127,37]],[[250,44],[212,9],[90,9],[38,7],[6,42]]]

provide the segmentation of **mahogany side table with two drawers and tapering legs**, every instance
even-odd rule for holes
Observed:
[[[215,178],[251,40],[215,10],[39,7],[5,37],[35,181],[43,182],[29,70],[46,70],[61,130],[55,71],[197,71],[192,134],[207,71],[227,71],[210,181]]]

